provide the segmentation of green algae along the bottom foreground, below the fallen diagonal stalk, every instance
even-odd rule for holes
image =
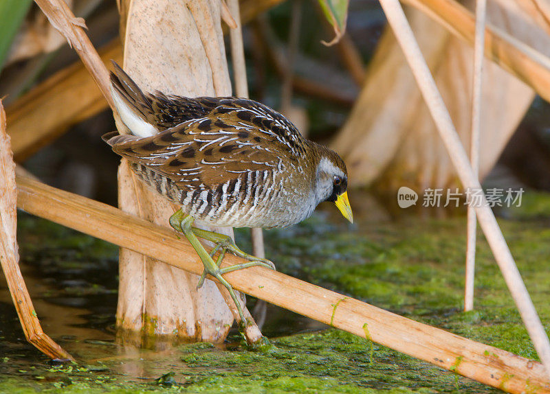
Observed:
[[[25,382],[0,380],[0,388],[21,392],[41,388],[50,392],[114,393],[157,392],[160,389],[183,393],[434,393],[453,386],[454,377],[440,370],[375,345],[375,360],[369,362],[369,347],[359,338],[336,329],[287,336],[272,341],[267,352],[231,351],[210,344],[180,348],[181,362],[146,384],[125,381],[113,374],[87,368],[37,368]],[[419,374],[428,382],[419,380]],[[23,374],[20,374],[23,375]],[[38,379],[38,377],[41,379]],[[485,391],[481,384],[463,379],[461,389]],[[451,390],[452,391],[452,390]]]

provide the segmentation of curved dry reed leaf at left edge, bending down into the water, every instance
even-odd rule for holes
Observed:
[[[5,112],[0,100],[0,264],[8,282],[12,301],[25,338],[50,358],[73,360],[61,346],[44,334],[21,270],[17,249],[17,186],[10,137],[5,128]]]

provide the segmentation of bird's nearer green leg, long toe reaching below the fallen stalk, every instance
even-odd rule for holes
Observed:
[[[233,299],[233,302],[235,303],[236,309],[239,311],[239,316],[241,317],[241,321],[245,322],[245,315],[243,313],[243,309],[241,308],[241,303],[239,302],[239,299],[236,297],[236,294],[233,290],[233,286],[223,279],[222,275],[228,272],[231,272],[232,270],[227,270],[227,268],[219,268],[219,264],[221,264],[221,260],[223,259],[223,255],[225,255],[225,252],[220,253],[220,256],[217,259],[217,262],[214,262],[212,259],[212,256],[208,254],[204,246],[199,242],[199,239],[197,236],[193,233],[191,224],[193,222],[193,218],[191,216],[186,216],[181,209],[174,213],[172,216],[170,216],[170,226],[172,226],[176,231],[181,231],[181,233],[184,233],[186,238],[189,240],[189,243],[191,246],[195,249],[197,252],[197,255],[201,258],[202,264],[204,266],[203,275],[201,275],[201,279],[199,280],[199,283],[197,285],[197,288],[201,287],[204,282],[204,277],[206,277],[207,274],[212,275],[212,277],[219,280],[219,282],[225,286],[225,288],[228,289],[229,294],[231,295],[231,298]],[[220,258],[221,257],[221,258]],[[240,265],[246,265],[246,264],[239,264]],[[235,266],[231,266],[228,268],[234,268]],[[246,267],[242,267],[246,268]],[[236,268],[239,269],[239,268]]]

